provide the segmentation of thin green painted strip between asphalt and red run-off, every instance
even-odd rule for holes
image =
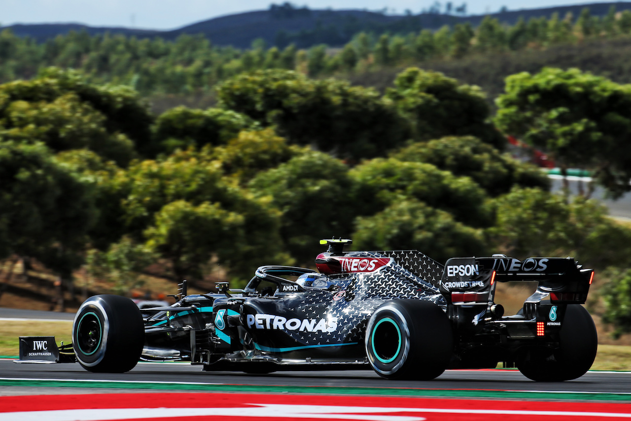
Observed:
[[[239,393],[292,393],[292,394],[327,394],[358,396],[401,396],[417,398],[493,398],[510,400],[536,401],[631,401],[630,394],[618,393],[533,393],[501,390],[452,390],[452,389],[397,389],[395,387],[309,387],[309,386],[249,386],[239,384],[199,384],[178,382],[77,382],[59,380],[0,380],[0,386],[25,387],[81,387],[95,389],[155,389],[155,390],[193,390],[208,392]]]

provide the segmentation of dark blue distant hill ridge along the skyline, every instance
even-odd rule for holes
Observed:
[[[617,11],[631,9],[631,2],[612,2],[577,4],[573,6],[555,6],[539,9],[508,10],[490,13],[489,16],[509,23],[510,25],[523,17],[550,17],[558,13],[561,17],[571,12],[578,16],[582,9],[589,8],[592,15],[604,16],[611,6]],[[294,42],[298,47],[310,47],[313,44],[326,43],[330,46],[341,46],[348,42],[357,32],[410,32],[420,29],[436,30],[443,25],[469,22],[478,25],[487,15],[446,15],[440,13],[421,13],[420,15],[385,15],[384,13],[366,10],[322,10],[293,9],[302,13],[287,16],[279,15],[273,9],[249,11],[235,15],[220,16],[199,21],[174,30],[148,30],[125,27],[90,27],[80,23],[38,23],[17,24],[9,28],[20,37],[32,37],[37,42],[44,42],[57,35],[70,31],[85,30],[90,35],[122,34],[127,36],[162,37],[167,40],[177,38],[181,34],[203,34],[216,46],[234,46],[247,48],[255,39],[264,39],[268,45],[285,46]]]

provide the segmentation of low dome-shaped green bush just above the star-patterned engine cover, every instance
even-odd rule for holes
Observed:
[[[439,262],[487,253],[480,229],[413,199],[394,202],[373,216],[359,217],[353,246],[359,250],[421,250]]]

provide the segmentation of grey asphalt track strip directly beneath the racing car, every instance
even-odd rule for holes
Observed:
[[[517,370],[447,370],[433,381],[388,381],[372,370],[275,372],[252,375],[238,372],[203,372],[198,365],[188,363],[139,363],[124,374],[99,374],[84,370],[78,363],[17,364],[12,360],[0,360],[2,380],[21,379],[32,381],[65,381],[75,386],[81,382],[105,381],[134,382],[138,384],[191,384],[201,386],[240,385],[265,388],[280,387],[291,391],[300,387],[322,388],[387,388],[387,389],[449,389],[451,391],[545,391],[554,393],[611,393],[628,394],[631,399],[631,373],[588,372],[579,379],[568,382],[533,382]],[[142,389],[143,386],[138,386]],[[177,387],[174,387],[177,389]],[[194,388],[193,388],[194,389]],[[393,391],[394,392],[394,391]],[[1,388],[0,388],[1,394]],[[553,398],[553,396],[540,396]]]

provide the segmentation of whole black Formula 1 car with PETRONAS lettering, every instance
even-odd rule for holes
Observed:
[[[581,306],[594,271],[574,259],[496,254],[442,265],[415,250],[343,252],[350,243],[321,240],[318,272],[259,267],[244,290],[221,283],[220,293],[187,295],[185,282],[170,307],[93,296],[74,318],[74,356],[92,372],[174,360],[206,371],[365,368],[418,380],[503,362],[535,381],[566,381],[594,361],[596,328]],[[538,282],[516,315],[494,300],[507,281]]]

